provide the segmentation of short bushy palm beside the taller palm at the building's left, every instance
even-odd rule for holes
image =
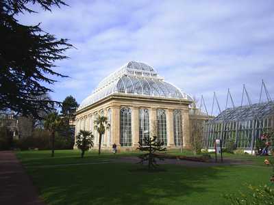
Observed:
[[[87,150],[93,147],[93,135],[90,131],[79,131],[76,139],[76,145],[79,150],[82,150],[81,158]]]

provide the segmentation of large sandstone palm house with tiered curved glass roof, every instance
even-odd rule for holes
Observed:
[[[75,133],[87,130],[95,135],[98,115],[108,118],[109,128],[102,148],[116,143],[119,149],[131,150],[144,137],[159,137],[167,148],[190,148],[189,105],[192,100],[171,83],[164,81],[147,64],[129,61],[99,83],[75,113]]]

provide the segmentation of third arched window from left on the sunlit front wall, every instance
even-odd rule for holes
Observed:
[[[166,146],[166,111],[164,109],[157,110],[157,137]]]

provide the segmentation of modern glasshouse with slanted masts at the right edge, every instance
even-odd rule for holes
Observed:
[[[206,147],[214,148],[215,139],[222,139],[223,147],[234,141],[237,148],[253,152],[256,139],[273,127],[273,101],[225,109],[206,124]]]

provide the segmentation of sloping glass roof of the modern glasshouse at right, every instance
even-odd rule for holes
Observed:
[[[274,116],[274,102],[262,102],[253,105],[239,106],[222,111],[214,122],[262,120]]]

